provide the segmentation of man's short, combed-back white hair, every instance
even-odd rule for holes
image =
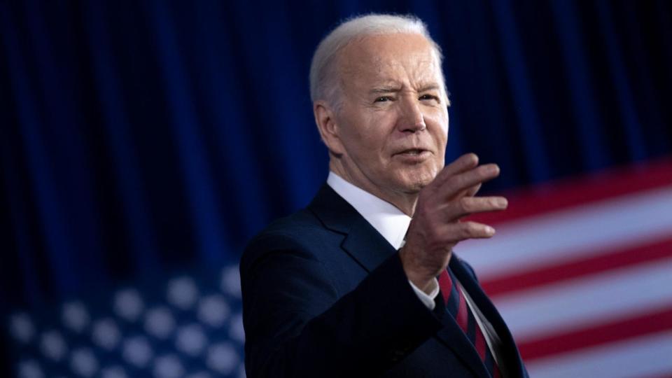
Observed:
[[[337,106],[340,84],[337,80],[339,72],[334,62],[339,52],[352,41],[365,36],[381,34],[420,34],[431,43],[435,59],[439,64],[441,83],[445,91],[445,80],[441,69],[443,55],[441,48],[429,35],[427,25],[414,15],[362,15],[345,20],[323,38],[315,50],[310,64],[310,99],[316,102],[326,100]]]

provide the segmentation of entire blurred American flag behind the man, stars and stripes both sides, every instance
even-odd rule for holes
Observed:
[[[475,267],[531,377],[672,377],[672,160],[508,193]],[[14,311],[20,378],[244,377],[236,266]]]

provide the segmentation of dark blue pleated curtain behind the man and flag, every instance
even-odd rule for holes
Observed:
[[[312,52],[372,11],[428,23],[487,191],[672,153],[668,1],[2,0],[1,309],[235,261],[307,204]]]

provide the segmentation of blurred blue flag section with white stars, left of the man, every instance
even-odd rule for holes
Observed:
[[[16,310],[6,330],[20,378],[245,377],[234,265]]]

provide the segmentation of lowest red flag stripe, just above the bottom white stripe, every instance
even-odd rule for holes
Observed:
[[[517,344],[522,358],[531,361],[670,329],[672,329],[672,307],[596,327],[524,340]]]

